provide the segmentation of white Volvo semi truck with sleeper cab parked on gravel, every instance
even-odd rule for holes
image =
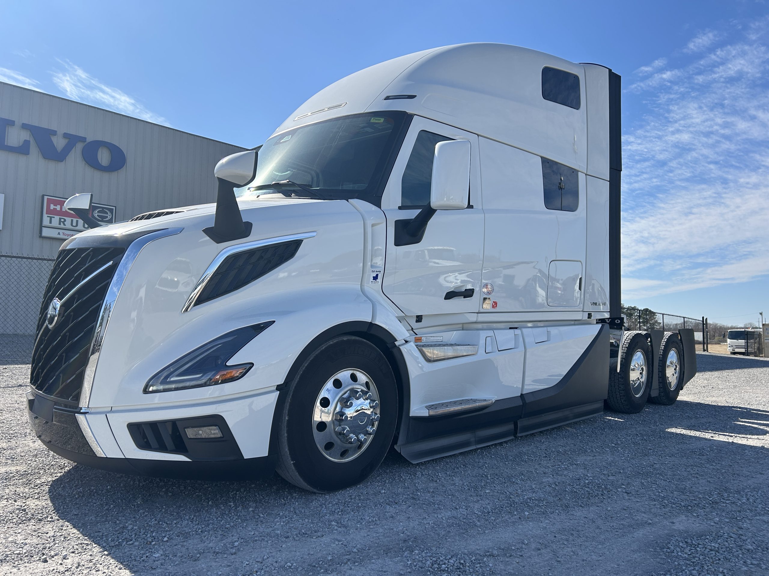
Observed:
[[[98,468],[331,492],[393,445],[672,404],[693,333],[622,329],[620,97],[604,66],[483,43],[331,84],[217,165],[216,204],[62,245],[32,429]]]

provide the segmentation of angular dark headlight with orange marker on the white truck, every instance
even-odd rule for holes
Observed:
[[[228,366],[228,360],[274,322],[238,328],[195,348],[152,376],[145,384],[145,394],[213,386],[242,378],[254,365],[248,362]]]

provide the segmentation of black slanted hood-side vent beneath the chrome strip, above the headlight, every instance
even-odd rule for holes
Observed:
[[[213,273],[211,280],[208,280],[195,305],[238,290],[275,270],[295,257],[300,246],[301,240],[291,240],[230,254]]]

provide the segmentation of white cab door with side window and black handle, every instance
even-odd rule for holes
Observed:
[[[468,207],[438,210],[420,241],[396,246],[396,222],[430,204],[435,145],[449,140],[471,144]],[[478,312],[484,243],[479,165],[475,134],[418,116],[411,121],[381,204],[388,230],[382,290],[406,316],[422,316],[425,323],[468,322]],[[464,316],[437,317],[444,314]]]

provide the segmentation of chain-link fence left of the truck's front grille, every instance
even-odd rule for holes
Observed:
[[[0,254],[0,334],[34,334],[54,260]]]

